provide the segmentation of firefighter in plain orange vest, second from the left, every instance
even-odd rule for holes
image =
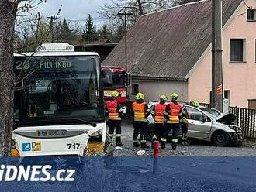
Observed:
[[[132,105],[132,113],[134,116],[133,122],[133,146],[140,146],[137,137],[140,132],[140,143],[141,148],[149,148],[145,139],[145,134],[147,131],[147,117],[150,115],[150,109],[147,106],[147,103],[144,102],[144,94],[138,93],[136,95],[136,101]]]

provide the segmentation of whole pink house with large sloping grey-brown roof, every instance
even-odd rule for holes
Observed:
[[[223,0],[223,85],[230,105],[256,108],[256,1]],[[124,39],[103,65],[124,66]],[[143,15],[127,34],[130,93],[209,103],[211,1]]]

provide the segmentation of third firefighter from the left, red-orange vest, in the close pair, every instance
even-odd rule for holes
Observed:
[[[154,117],[154,136],[153,136],[153,142],[154,141],[161,141],[161,137],[164,133],[164,112],[166,108],[166,101],[167,97],[163,94],[160,96],[160,101],[157,105],[154,105],[154,108],[152,110],[152,115]],[[153,148],[153,142],[152,142],[152,148]]]

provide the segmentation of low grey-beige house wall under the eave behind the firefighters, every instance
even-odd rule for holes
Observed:
[[[139,85],[139,92],[144,93],[145,101],[156,101],[161,94],[165,94],[169,99],[170,94],[173,92],[176,92],[179,95],[179,101],[188,101],[187,81],[146,81],[133,79],[132,83]],[[131,99],[134,98],[135,95],[131,95]]]

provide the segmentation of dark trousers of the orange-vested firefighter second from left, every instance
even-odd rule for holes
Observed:
[[[138,135],[140,133],[141,146],[146,146],[145,134],[147,131],[147,122],[133,122],[133,146],[138,146]]]

